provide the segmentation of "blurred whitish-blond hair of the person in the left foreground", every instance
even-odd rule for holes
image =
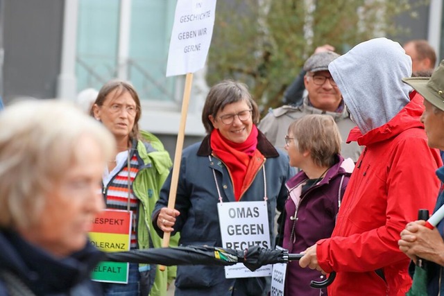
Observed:
[[[85,135],[112,157],[112,134],[74,104],[56,100],[20,101],[0,112],[0,227],[28,228],[41,214],[45,195],[76,155]],[[62,209],[60,209],[62,210]]]

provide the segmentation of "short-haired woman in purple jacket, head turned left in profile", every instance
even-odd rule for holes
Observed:
[[[298,254],[332,234],[355,164],[340,155],[341,135],[330,115],[309,114],[293,121],[285,141],[290,165],[301,171],[287,181],[289,197],[280,221],[280,245]],[[298,261],[290,262],[284,295],[327,295],[326,288],[320,292],[310,287],[310,281],[322,281],[323,277],[318,270],[300,268]]]

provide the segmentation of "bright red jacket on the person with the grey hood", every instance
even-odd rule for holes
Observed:
[[[335,295],[405,295],[411,286],[409,258],[398,240],[418,209],[432,212],[441,166],[439,151],[427,146],[420,123],[423,98],[411,94],[391,121],[349,139],[364,145],[345,191],[332,238],[318,241],[318,263],[337,272],[328,288]],[[359,130],[358,130],[359,132]]]

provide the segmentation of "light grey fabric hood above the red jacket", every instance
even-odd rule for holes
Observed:
[[[362,134],[379,128],[409,103],[411,58],[398,42],[375,38],[336,58],[328,67]]]

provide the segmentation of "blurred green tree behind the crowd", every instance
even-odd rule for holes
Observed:
[[[428,2],[219,0],[207,81],[245,82],[264,114],[282,105],[284,90],[316,46],[331,44],[343,54],[373,37],[408,35],[393,19],[414,18],[415,9]]]

